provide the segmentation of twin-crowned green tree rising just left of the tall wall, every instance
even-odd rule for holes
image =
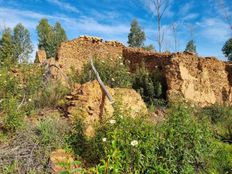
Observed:
[[[37,33],[39,37],[39,49],[46,51],[47,57],[55,57],[56,49],[61,42],[67,40],[66,33],[61,24],[57,22],[55,26],[51,26],[46,18],[40,20],[37,26]]]

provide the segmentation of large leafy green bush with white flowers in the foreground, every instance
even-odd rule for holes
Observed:
[[[77,132],[75,149],[85,149],[78,155],[92,165],[101,161],[93,169],[99,173],[198,173],[213,157],[210,131],[183,106],[171,108],[169,119],[158,126],[145,116],[127,117],[115,106],[113,118],[96,128],[94,138]]]

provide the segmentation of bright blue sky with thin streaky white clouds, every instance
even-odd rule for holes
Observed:
[[[220,0],[171,0],[162,25],[165,31],[163,49],[174,51],[171,24],[177,24],[178,50],[183,51],[192,37],[201,56],[216,56],[225,60],[221,48],[231,36]],[[232,11],[232,1],[224,0]],[[0,0],[0,30],[13,28],[21,22],[31,33],[37,49],[36,26],[45,17],[51,24],[62,23],[68,38],[80,35],[98,36],[127,44],[131,20],[137,18],[144,29],[146,44],[156,49],[156,18],[150,0]],[[193,35],[191,37],[191,32]]]

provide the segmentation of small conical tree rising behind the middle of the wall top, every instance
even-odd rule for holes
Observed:
[[[131,22],[130,33],[128,35],[129,47],[143,47],[146,36],[136,19]]]

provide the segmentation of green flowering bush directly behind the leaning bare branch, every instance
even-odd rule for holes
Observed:
[[[127,65],[121,59],[112,61],[111,59],[95,59],[94,66],[97,69],[102,81],[110,87],[131,87],[131,77]],[[95,80],[90,63],[84,65],[79,78],[75,82],[85,83]]]

